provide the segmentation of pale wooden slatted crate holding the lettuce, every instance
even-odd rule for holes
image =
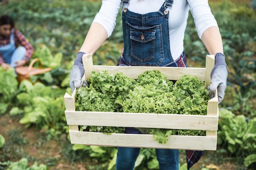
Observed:
[[[147,70],[159,70],[167,79],[177,80],[182,75],[192,75],[210,84],[211,70],[214,66],[214,55],[207,55],[206,68],[180,67],[143,67],[143,66],[97,66],[93,65],[92,55],[83,56],[85,75],[90,78],[92,71],[108,70],[110,73],[122,72],[128,77],[137,79],[138,75]],[[218,130],[218,97],[209,100],[207,115],[176,115],[155,113],[110,113],[75,111],[75,93],[64,95],[65,116],[69,125],[72,144],[94,146],[122,146],[141,148],[171,148],[182,150],[216,150]],[[141,128],[168,128],[185,130],[207,130],[206,136],[172,135],[166,144],[159,144],[153,135],[146,134],[114,134],[106,135],[101,132],[79,131],[79,125],[88,126],[117,126]]]

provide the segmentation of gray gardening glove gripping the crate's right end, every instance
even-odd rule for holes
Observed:
[[[208,86],[209,97],[213,98],[214,92],[218,88],[218,104],[222,102],[227,88],[227,64],[225,55],[216,53],[215,65],[211,71],[211,84]]]

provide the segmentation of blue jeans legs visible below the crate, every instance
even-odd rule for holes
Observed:
[[[116,170],[133,170],[140,148],[117,147]],[[155,149],[159,170],[179,170],[179,150]]]

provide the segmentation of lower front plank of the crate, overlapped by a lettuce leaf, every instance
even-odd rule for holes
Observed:
[[[121,146],[139,148],[168,148],[185,150],[216,150],[217,137],[172,135],[166,144],[159,144],[153,135],[111,134],[70,130],[72,144]]]

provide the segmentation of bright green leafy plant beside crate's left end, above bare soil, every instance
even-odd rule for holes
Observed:
[[[64,130],[66,119],[63,97],[54,96],[52,88],[40,82],[32,84],[24,80],[19,89],[21,93],[17,98],[24,111],[24,116],[19,121],[21,124],[26,127],[35,125],[55,133]]]

